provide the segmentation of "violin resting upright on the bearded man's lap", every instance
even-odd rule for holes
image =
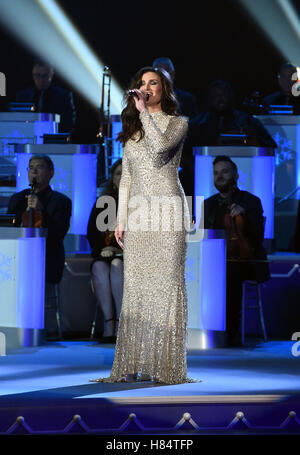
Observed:
[[[228,198],[228,212],[224,216],[227,231],[227,256],[236,259],[251,259],[254,249],[249,241],[249,229],[243,214],[232,217],[230,208],[233,204],[231,195]]]

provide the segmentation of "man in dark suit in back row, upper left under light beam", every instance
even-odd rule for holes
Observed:
[[[17,93],[16,101],[34,102],[37,112],[60,114],[60,133],[71,133],[75,127],[76,112],[72,92],[53,84],[51,65],[37,61],[33,65],[34,86]]]

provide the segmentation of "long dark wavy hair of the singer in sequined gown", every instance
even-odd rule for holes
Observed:
[[[171,77],[162,68],[154,68],[152,66],[145,66],[141,68],[133,77],[129,89],[140,88],[142,85],[142,77],[145,73],[156,73],[160,77],[162,84],[161,108],[164,112],[170,115],[178,115],[177,108],[178,102],[173,91],[173,83]],[[117,140],[124,146],[126,142],[132,138],[136,133],[139,134],[139,140],[145,135],[142,123],[139,118],[139,111],[135,107],[135,102],[132,96],[125,93],[124,103],[126,107],[123,109],[122,118],[122,131],[118,135]]]

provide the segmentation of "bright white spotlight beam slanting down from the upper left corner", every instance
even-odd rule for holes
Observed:
[[[55,0],[0,0],[0,22],[94,107],[100,104],[104,63]],[[111,81],[111,114],[122,110],[123,91]]]

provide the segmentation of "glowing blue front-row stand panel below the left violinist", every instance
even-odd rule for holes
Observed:
[[[17,327],[42,329],[45,300],[45,238],[18,240]]]

